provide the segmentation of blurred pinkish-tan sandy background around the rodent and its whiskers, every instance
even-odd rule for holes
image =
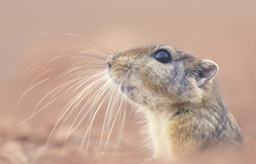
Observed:
[[[137,44],[171,44],[218,63],[219,88],[244,133],[247,160],[255,162],[256,1],[1,0],[0,29],[0,163],[139,163],[146,157],[135,123],[140,118],[134,114],[127,116],[120,147],[110,144],[103,160],[97,150],[99,120],[87,157],[83,152],[77,157],[82,127],[70,137],[63,153],[65,126],[53,135],[45,151],[61,105],[17,126],[51,90],[47,85],[37,86],[16,106],[33,78],[43,72],[35,69],[21,76],[24,69],[38,59],[65,54],[66,48],[86,43],[65,33],[107,44],[104,37],[120,51]],[[43,33],[50,34],[38,37]],[[77,49],[68,53],[77,53]]]

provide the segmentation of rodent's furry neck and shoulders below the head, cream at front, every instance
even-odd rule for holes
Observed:
[[[155,158],[170,161],[220,145],[238,147],[243,142],[215,82],[204,91],[201,102],[179,103],[165,112],[145,110]]]

